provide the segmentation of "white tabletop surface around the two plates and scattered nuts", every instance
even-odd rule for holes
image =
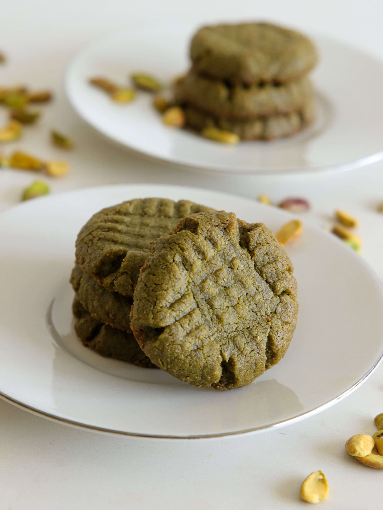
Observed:
[[[273,19],[342,38],[383,58],[383,4],[378,1],[3,1],[0,45],[9,64],[0,67],[0,84],[25,81],[56,93],[39,125],[29,128],[14,146],[42,158],[70,161],[71,175],[52,181],[54,192],[153,182],[249,197],[262,192],[274,200],[296,195],[311,200],[307,218],[320,225],[330,224],[335,208],[344,208],[360,218],[364,257],[383,277],[383,216],[376,213],[383,200],[383,163],[338,175],[217,178],[133,156],[100,139],[74,115],[63,96],[62,77],[76,50],[99,34],[164,16],[174,22],[187,17],[196,24]],[[68,156],[50,147],[51,126],[75,139],[77,148]],[[20,190],[33,179],[31,172],[0,170],[0,208],[17,203]],[[362,348],[366,344],[361,338]],[[379,412],[383,412],[383,365],[350,397],[309,420],[227,440],[154,442],[101,436],[48,422],[0,401],[0,510],[309,507],[299,500],[299,487],[317,469],[330,484],[323,508],[377,508],[383,473],[349,457],[344,443],[354,433],[373,433],[372,420]]]

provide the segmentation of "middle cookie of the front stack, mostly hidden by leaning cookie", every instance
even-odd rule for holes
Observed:
[[[70,283],[78,300],[92,317],[114,328],[131,331],[131,297],[108,291],[79,266],[74,266]]]

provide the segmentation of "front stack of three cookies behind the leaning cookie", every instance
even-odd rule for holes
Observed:
[[[133,293],[152,244],[188,214],[212,211],[189,200],[130,200],[96,213],[76,241],[70,277],[74,329],[103,356],[154,367],[130,326]]]

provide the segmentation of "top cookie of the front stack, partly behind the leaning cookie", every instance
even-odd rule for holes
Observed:
[[[136,198],[96,213],[76,240],[76,264],[100,285],[133,296],[152,244],[184,216],[212,211],[190,200]]]

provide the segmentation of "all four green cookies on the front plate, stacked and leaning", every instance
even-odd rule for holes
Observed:
[[[274,234],[188,200],[95,214],[71,283],[84,345],[197,387],[249,384],[283,358],[296,325],[293,267]]]

